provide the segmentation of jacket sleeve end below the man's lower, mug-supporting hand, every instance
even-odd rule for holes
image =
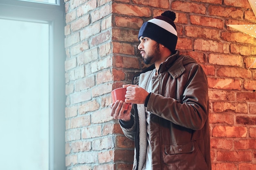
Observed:
[[[131,140],[135,140],[135,134],[136,134],[136,120],[134,115],[131,114],[131,120],[129,122],[125,122],[119,119],[119,124],[121,129],[124,132],[124,135],[128,137]]]

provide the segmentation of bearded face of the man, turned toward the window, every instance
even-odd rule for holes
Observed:
[[[138,49],[143,61],[145,64],[153,64],[159,58],[159,43],[148,37],[140,37],[139,41]]]

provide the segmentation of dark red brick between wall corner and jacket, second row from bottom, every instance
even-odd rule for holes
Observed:
[[[133,150],[114,150],[114,161],[133,162]]]

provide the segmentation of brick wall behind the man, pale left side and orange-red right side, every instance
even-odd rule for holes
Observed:
[[[176,12],[177,49],[202,64],[209,81],[213,170],[256,169],[255,38],[227,24],[252,24],[247,0],[65,0],[66,166],[128,170],[133,142],[110,117],[110,92],[145,67],[142,23]]]

